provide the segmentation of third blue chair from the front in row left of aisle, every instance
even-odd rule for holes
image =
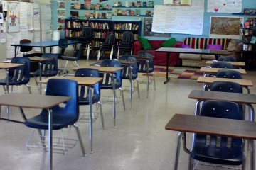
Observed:
[[[122,67],[119,60],[103,60],[100,66],[103,67]],[[123,106],[125,110],[124,103],[124,90],[122,89],[122,70],[119,70],[115,74],[115,89],[119,89],[122,95]],[[110,73],[100,73],[100,77],[103,78],[103,81],[100,84],[100,89],[113,89],[113,79]],[[115,104],[115,103],[114,103]]]

